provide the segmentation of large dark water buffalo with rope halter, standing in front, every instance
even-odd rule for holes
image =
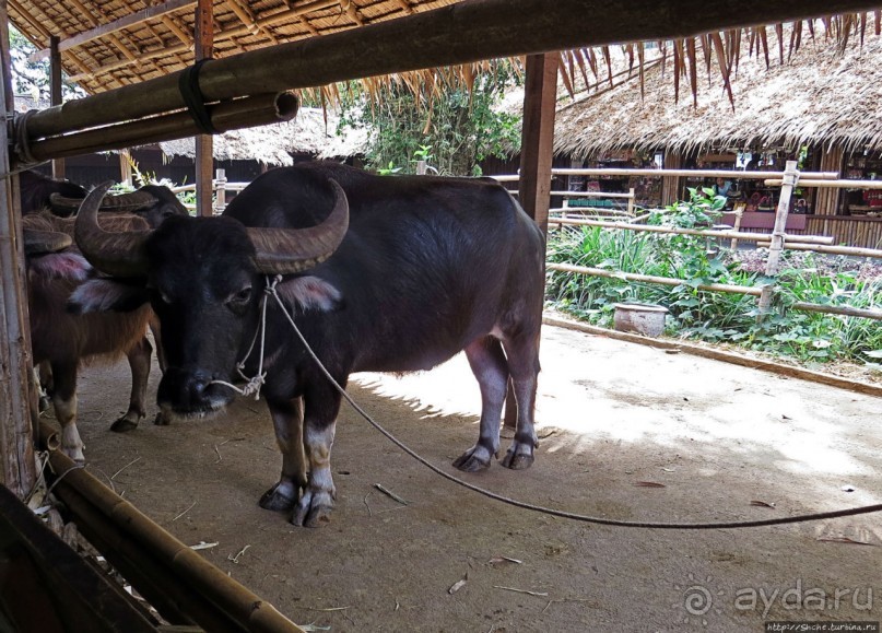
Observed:
[[[96,192],[99,194],[99,192]],[[80,210],[77,241],[98,269],[141,277],[141,289],[97,281],[83,313],[150,301],[169,367],[158,402],[191,418],[222,409],[236,363],[259,325],[264,276],[331,375],[428,370],[464,350],[481,389],[480,435],[455,465],[475,471],[499,448],[506,382],[517,431],[502,460],[529,467],[543,288],[543,237],[501,186],[459,178],[381,177],[332,163],[268,172],[221,218],[172,218],[152,233],[95,224],[99,195]],[[260,500],[316,526],[333,506],[330,454],[340,394],[278,305],[267,312],[263,395],[282,474]],[[257,371],[257,353],[245,371]]]

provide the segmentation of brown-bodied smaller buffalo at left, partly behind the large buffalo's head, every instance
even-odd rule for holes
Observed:
[[[72,239],[66,228],[72,228],[72,224],[49,214],[25,215],[22,222],[34,362],[48,363],[51,370],[52,406],[61,424],[61,448],[72,459],[82,461],[83,443],[77,429],[78,371],[83,363],[98,357],[127,356],[132,374],[129,408],[111,429],[133,429],[146,414],[152,347],[145,333],[152,312],[145,305],[125,313],[70,314],[68,300],[96,276],[89,262],[70,247]],[[136,216],[108,218],[105,222],[117,230],[148,227]]]

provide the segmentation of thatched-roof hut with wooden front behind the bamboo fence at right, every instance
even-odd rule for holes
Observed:
[[[752,168],[781,169],[787,160],[799,160],[807,171],[882,179],[882,37],[877,31],[870,21],[866,37],[847,43],[823,30],[803,32],[793,50],[792,30],[771,32],[768,57],[758,45],[750,54],[746,45],[742,48],[730,75],[732,101],[709,70],[698,73],[694,95],[681,78],[678,98],[672,55],[669,50],[662,60],[656,49],[643,81],[636,69],[625,69],[599,81],[593,92],[558,102],[555,154],[568,157],[571,166],[645,166],[640,160],[663,154],[665,167],[731,169],[732,181],[751,161]],[[662,187],[661,178],[642,180],[643,202],[651,206],[683,199],[689,186],[714,183],[666,178]],[[771,230],[779,188],[743,180],[741,190],[745,200],[754,191],[768,199],[768,212],[749,210],[742,226]],[[788,231],[831,235],[850,246],[882,244],[878,191],[803,187],[798,198],[802,202],[795,201],[791,210],[808,213]]]

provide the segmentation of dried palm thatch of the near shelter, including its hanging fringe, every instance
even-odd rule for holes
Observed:
[[[457,0],[212,0],[213,55],[224,58],[456,3]],[[193,61],[196,0],[9,0],[8,5],[10,21],[44,52],[50,36],[60,38],[63,70],[90,94],[179,71]],[[875,15],[879,16],[879,11]],[[825,32],[838,43],[851,37],[862,39],[870,28],[870,16],[859,13],[795,22],[790,42],[779,44],[778,52],[783,56],[786,49],[799,48],[802,38],[814,33],[815,23],[823,23]],[[877,33],[878,25],[877,20]],[[671,57],[678,69],[670,73],[675,91],[682,82],[695,95],[702,67],[708,71],[716,67],[727,85],[745,48],[762,50],[768,58],[774,49],[768,33],[783,31],[783,25],[758,26],[665,44],[665,55]],[[645,70],[646,50],[646,44],[626,47],[630,65],[638,74]],[[575,92],[579,78],[584,83],[589,83],[589,74],[599,80],[599,61],[609,60],[611,49],[585,48],[562,55],[562,80]],[[410,86],[426,82],[470,86],[482,69],[482,63],[468,63],[414,71],[366,79],[363,86],[368,95],[376,95],[377,83],[387,81]],[[311,92],[307,96],[315,97],[317,103],[334,102],[340,97],[339,90],[334,85],[315,86],[307,91]]]

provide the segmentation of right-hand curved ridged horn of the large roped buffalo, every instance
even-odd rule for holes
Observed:
[[[248,228],[257,255],[255,266],[266,274],[293,274],[318,266],[337,250],[349,228],[349,202],[343,188],[328,180],[334,200],[331,214],[307,228]]]

